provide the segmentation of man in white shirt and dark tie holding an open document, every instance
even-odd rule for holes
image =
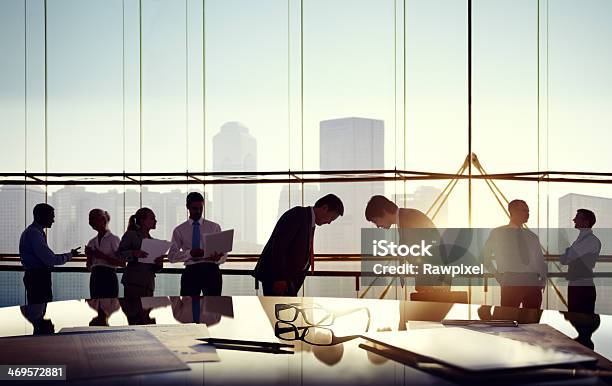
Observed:
[[[227,260],[227,253],[204,249],[204,235],[221,232],[219,224],[205,220],[204,197],[198,192],[187,195],[189,219],[174,228],[168,260],[183,261],[181,296],[220,296],[223,280],[219,265]]]

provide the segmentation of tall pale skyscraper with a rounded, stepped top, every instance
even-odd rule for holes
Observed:
[[[257,170],[257,141],[239,122],[227,122],[213,137],[213,171]],[[235,252],[257,242],[257,187],[253,184],[215,185],[214,218],[221,228],[234,229]]]

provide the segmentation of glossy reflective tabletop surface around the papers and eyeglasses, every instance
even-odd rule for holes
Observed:
[[[293,354],[218,349],[219,362],[189,363],[190,371],[147,375],[147,382],[453,384],[453,379],[360,348],[360,335],[367,331],[440,328],[443,319],[510,319],[525,331],[549,325],[594,348],[602,356],[598,365],[612,369],[605,359],[612,357],[610,316],[418,301],[254,296],[59,301],[0,309],[0,336],[53,334],[66,327],[200,323],[212,337],[290,343]],[[100,380],[106,381],[112,383]]]

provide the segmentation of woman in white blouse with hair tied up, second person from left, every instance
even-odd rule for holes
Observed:
[[[89,212],[89,225],[98,232],[85,247],[89,278],[89,296],[91,299],[116,298],[119,296],[117,267],[125,267],[125,262],[118,259],[119,237],[108,230],[110,215],[102,209]]]

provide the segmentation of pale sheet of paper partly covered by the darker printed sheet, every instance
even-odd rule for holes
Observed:
[[[62,328],[60,333],[102,330],[122,331],[134,329],[150,332],[183,362],[218,362],[220,360],[214,346],[204,345],[197,340],[197,338],[210,337],[210,333],[205,324],[189,323],[118,327],[68,327]]]

